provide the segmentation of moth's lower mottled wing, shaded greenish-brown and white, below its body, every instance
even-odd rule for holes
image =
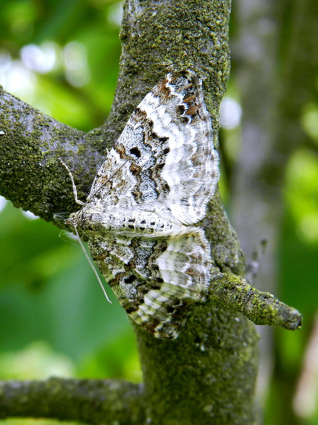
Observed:
[[[174,339],[210,278],[203,231],[169,238],[110,235],[90,240],[93,260],[129,316],[157,338]]]

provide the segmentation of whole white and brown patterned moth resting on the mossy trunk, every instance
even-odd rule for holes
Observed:
[[[167,74],[129,118],[66,223],[85,234],[98,268],[129,316],[174,339],[204,301],[210,246],[200,227],[219,177],[201,80]]]

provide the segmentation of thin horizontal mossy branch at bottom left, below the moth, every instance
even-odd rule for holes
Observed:
[[[80,422],[144,423],[141,385],[119,380],[0,381],[0,418],[33,417]]]

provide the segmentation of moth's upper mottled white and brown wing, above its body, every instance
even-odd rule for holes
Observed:
[[[192,224],[205,216],[218,176],[201,80],[191,71],[174,72],[132,113],[88,199],[106,207],[148,202]]]

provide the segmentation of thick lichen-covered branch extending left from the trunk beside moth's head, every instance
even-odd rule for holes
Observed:
[[[1,195],[47,221],[59,211],[78,209],[58,157],[76,168],[77,189],[85,197],[104,159],[98,150],[100,131],[84,133],[62,124],[2,88],[0,123]]]

